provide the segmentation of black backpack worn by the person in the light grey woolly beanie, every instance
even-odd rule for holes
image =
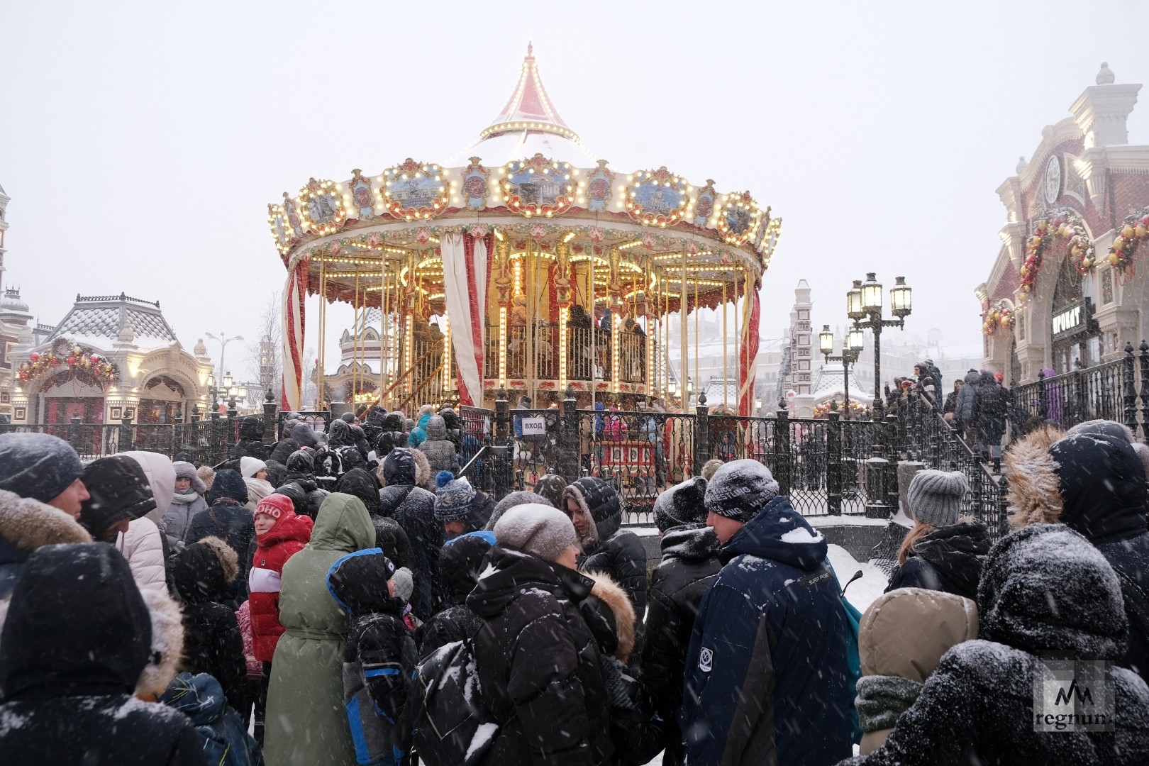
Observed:
[[[453,641],[415,668],[411,741],[427,766],[472,766],[499,734],[479,684],[472,639]]]

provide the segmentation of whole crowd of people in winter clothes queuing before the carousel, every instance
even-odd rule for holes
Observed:
[[[214,469],[0,435],[0,763],[1149,763],[1119,424],[1015,444],[993,546],[961,473],[917,473],[859,616],[761,462],[662,492],[651,571],[599,478],[472,487],[452,415],[252,419]],[[1110,664],[1108,730],[1034,726],[1050,653]]]

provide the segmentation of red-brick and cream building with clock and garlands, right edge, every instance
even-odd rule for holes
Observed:
[[[985,366],[1007,384],[1109,362],[1149,338],[1149,145],[1126,130],[1140,90],[1103,63],[997,187],[1002,246],[976,294]]]

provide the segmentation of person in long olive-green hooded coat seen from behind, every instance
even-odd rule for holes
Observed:
[[[263,753],[280,766],[344,766],[355,748],[344,709],[347,612],[327,573],[347,554],[371,548],[375,527],[363,502],[339,493],[319,508],[311,541],[284,565],[279,636],[271,661]]]

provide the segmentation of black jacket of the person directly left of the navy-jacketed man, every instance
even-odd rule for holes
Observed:
[[[720,571],[718,536],[710,527],[676,527],[663,534],[662,563],[650,577],[642,670],[647,696],[664,725],[664,766],[683,763],[678,711],[686,650],[702,596]]]

